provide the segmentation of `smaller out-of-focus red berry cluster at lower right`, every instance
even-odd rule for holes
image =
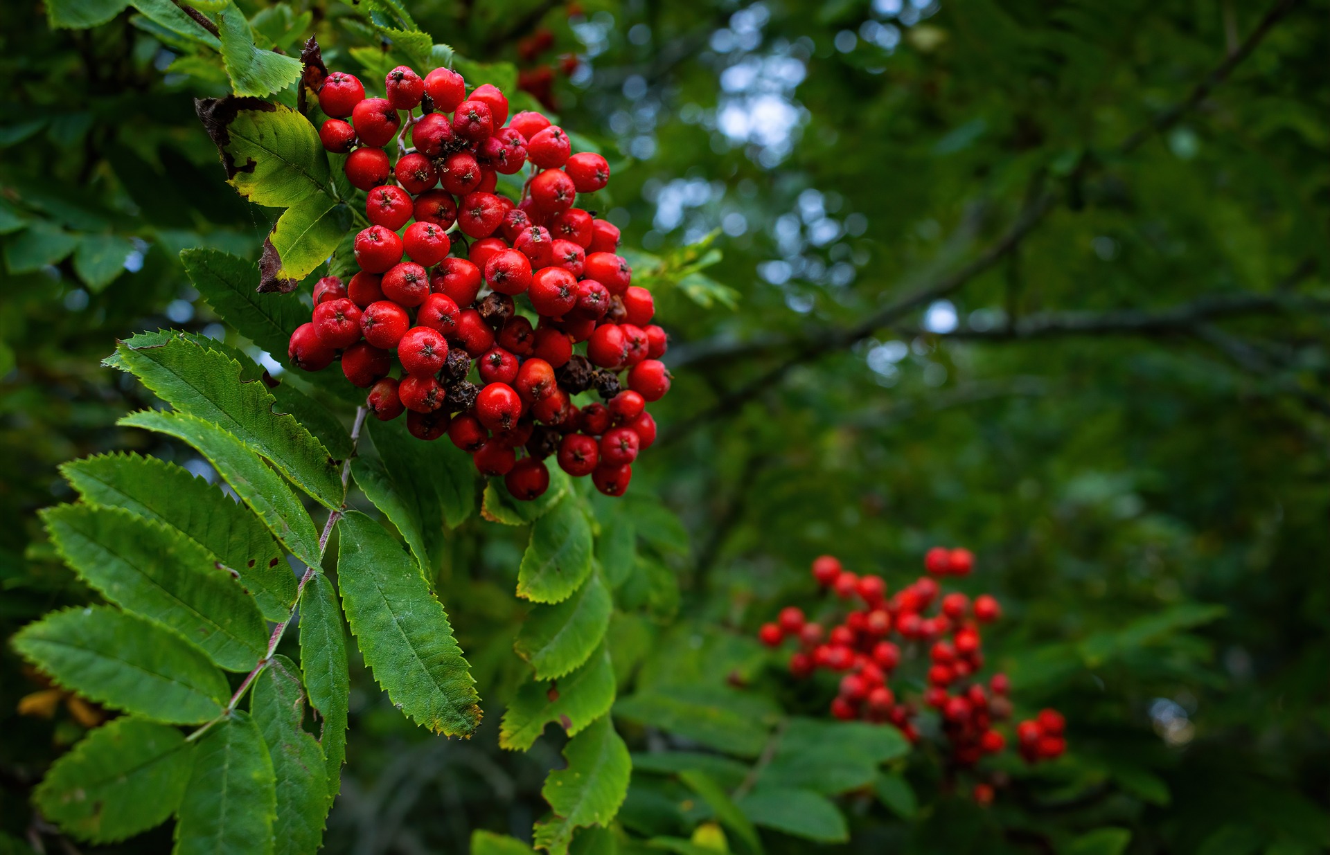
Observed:
[[[974,569],[974,554],[968,549],[935,548],[924,564],[932,576],[966,576]],[[880,576],[857,576],[837,558],[822,556],[813,562],[813,577],[841,600],[857,600],[861,608],[851,608],[841,624],[826,632],[802,609],[787,606],[775,622],[761,628],[758,638],[771,648],[786,638],[797,640],[799,649],[790,657],[795,677],[811,677],[819,669],[843,674],[831,701],[833,715],[890,722],[911,742],[919,738],[912,721],[916,709],[899,699],[888,682],[903,661],[920,658],[927,649],[923,702],[940,714],[952,763],[970,767],[1007,745],[995,729],[1012,711],[1007,675],[994,674],[987,687],[975,679],[983,668],[980,625],[998,620],[1001,608],[988,594],[974,602],[959,592],[940,596],[932,576],[922,576],[888,597]],[[1016,733],[1021,757],[1029,762],[1065,750],[1063,717],[1053,710],[1021,722]]]

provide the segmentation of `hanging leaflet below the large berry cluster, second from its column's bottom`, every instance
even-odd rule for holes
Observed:
[[[517,689],[504,710],[499,745],[525,751],[545,725],[559,722],[569,737],[609,711],[614,703],[614,666],[602,646],[581,668],[556,682],[532,679]]]

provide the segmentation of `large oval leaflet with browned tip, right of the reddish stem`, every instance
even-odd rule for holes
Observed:
[[[348,513],[339,535],[342,605],[374,678],[418,725],[471,735],[480,723],[475,679],[415,561],[362,513]]]

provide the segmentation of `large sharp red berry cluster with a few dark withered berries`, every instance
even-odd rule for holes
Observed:
[[[656,439],[646,404],[670,375],[652,294],[630,285],[616,254],[618,229],[573,206],[606,185],[609,165],[573,154],[540,113],[509,121],[503,92],[484,84],[468,94],[451,69],[422,78],[398,66],[384,88],[387,97],[367,98],[342,72],[319,88],[331,117],[319,137],[347,153],[371,225],[355,238],[359,271],[314,287],[314,319],[291,335],[291,363],[319,371],[340,355],[376,418],[406,412],[423,440],[447,433],[517,499],[545,492],[551,455],[600,492],[624,495]],[[394,138],[395,164],[384,150]],[[499,174],[528,164],[521,198],[500,195]],[[400,378],[390,376],[394,356]],[[589,390],[605,403],[577,406]]]

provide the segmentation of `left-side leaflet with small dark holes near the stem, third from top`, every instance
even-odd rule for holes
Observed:
[[[174,463],[98,455],[60,467],[84,501],[122,508],[180,531],[241,576],[263,617],[283,621],[295,605],[295,576],[277,541],[245,505]]]

